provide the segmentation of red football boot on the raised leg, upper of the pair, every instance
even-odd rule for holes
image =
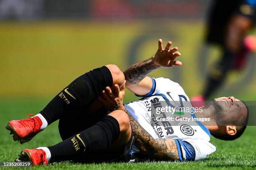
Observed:
[[[28,117],[28,115],[27,119],[11,120],[6,126],[6,129],[10,130],[10,134],[13,135],[13,140],[18,140],[20,144],[30,141],[40,131],[43,124],[39,117]]]

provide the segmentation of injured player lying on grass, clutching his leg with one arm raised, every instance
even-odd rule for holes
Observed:
[[[32,161],[33,165],[62,160],[126,162],[134,155],[154,160],[199,160],[215,151],[209,142],[210,134],[223,140],[238,138],[246,128],[248,110],[234,97],[216,98],[202,113],[186,115],[211,118],[212,126],[199,121],[195,126],[151,122],[151,103],[190,103],[178,83],[147,76],[158,68],[182,65],[175,61],[180,53],[177,47],[170,48],[171,44],[163,48],[160,39],[153,57],[124,72],[115,65],[87,72],[65,87],[39,114],[10,121],[6,128],[13,139],[25,143],[59,120],[62,142],[24,149],[18,160]],[[143,96],[141,100],[123,105],[125,80],[129,90]],[[218,126],[225,121],[230,125]]]

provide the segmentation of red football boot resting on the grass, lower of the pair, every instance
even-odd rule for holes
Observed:
[[[47,165],[46,153],[42,149],[24,149],[18,155],[17,161],[31,161],[32,165]]]

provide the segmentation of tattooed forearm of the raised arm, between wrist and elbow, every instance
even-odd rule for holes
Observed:
[[[153,62],[153,59],[154,59],[154,56],[150,57],[147,60],[137,62],[131,65],[130,67],[128,67],[128,69],[126,69],[123,72],[125,75],[125,80],[132,85],[138,84],[150,72],[158,68],[158,65],[156,65]]]

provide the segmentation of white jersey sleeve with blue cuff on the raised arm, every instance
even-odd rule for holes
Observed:
[[[177,82],[174,82],[174,81],[170,80],[169,78],[164,78],[164,77],[159,77],[159,78],[150,77],[150,78],[151,78],[152,84],[153,84],[150,92],[148,92],[148,94],[146,94],[146,95],[136,95],[135,94],[136,96],[149,97],[151,95],[155,95],[158,93],[164,93],[164,92],[166,92],[166,90],[169,90],[169,91],[183,90],[182,87]]]

